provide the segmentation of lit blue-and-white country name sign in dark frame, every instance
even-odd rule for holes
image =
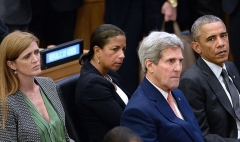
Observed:
[[[48,69],[77,60],[83,53],[83,40],[76,39],[40,51],[41,69]]]

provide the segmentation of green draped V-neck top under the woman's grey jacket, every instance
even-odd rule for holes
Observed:
[[[41,142],[66,142],[66,136],[64,132],[64,127],[61,119],[59,118],[58,113],[55,111],[48,98],[40,89],[43,101],[45,103],[48,115],[50,118],[50,123],[48,123],[42,115],[38,112],[36,107],[24,94],[24,100],[26,101],[30,113],[34,119],[34,122],[37,125],[38,132],[40,134]]]

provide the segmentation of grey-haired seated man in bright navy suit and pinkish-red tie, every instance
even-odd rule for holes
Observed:
[[[183,93],[176,89],[182,71],[183,43],[174,34],[151,32],[138,55],[142,83],[128,102],[120,121],[144,142],[203,142],[197,120]]]

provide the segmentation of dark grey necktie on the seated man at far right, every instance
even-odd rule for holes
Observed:
[[[237,88],[235,87],[233,82],[229,79],[228,73],[225,69],[222,69],[221,75],[224,79],[224,84],[232,98],[233,109],[236,114],[236,117],[238,118],[238,120],[240,120],[239,94],[238,94]]]

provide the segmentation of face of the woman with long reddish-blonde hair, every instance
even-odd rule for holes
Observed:
[[[17,71],[19,78],[37,76],[41,73],[40,52],[35,41],[19,55],[11,68]]]

